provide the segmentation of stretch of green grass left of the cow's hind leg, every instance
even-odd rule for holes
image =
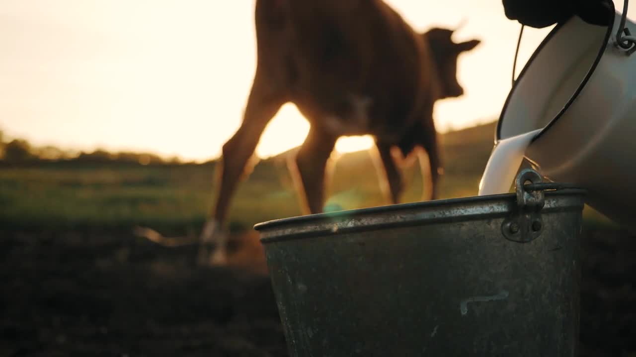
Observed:
[[[211,173],[210,166],[5,168],[0,219],[26,227],[195,222],[202,220],[202,182]]]

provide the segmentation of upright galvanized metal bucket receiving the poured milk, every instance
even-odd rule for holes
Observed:
[[[575,356],[584,191],[516,187],[256,225],[291,356]]]

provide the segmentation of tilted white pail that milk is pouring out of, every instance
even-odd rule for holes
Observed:
[[[636,25],[610,1],[608,27],[557,25],[513,84],[496,142],[537,131],[525,151],[546,179],[588,191],[586,203],[636,231]]]

